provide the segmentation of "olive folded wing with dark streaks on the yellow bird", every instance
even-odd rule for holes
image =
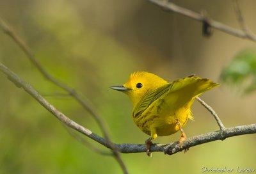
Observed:
[[[173,83],[168,83],[168,84],[165,84],[164,86],[161,86],[160,88],[157,88],[154,91],[145,93],[145,95],[142,97],[140,102],[138,102],[138,104],[134,108],[132,116],[133,117],[140,116],[148,108],[148,106],[152,104],[152,102],[166,95],[166,93],[168,93],[170,88],[172,88],[172,84]]]

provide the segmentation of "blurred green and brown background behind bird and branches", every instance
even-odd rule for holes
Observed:
[[[239,28],[232,1],[173,1]],[[256,1],[239,1],[244,20],[256,32]],[[28,43],[46,70],[88,98],[108,123],[115,143],[148,138],[133,123],[128,97],[110,90],[129,74],[147,70],[168,81],[191,74],[221,83],[202,99],[226,127],[256,122],[256,43],[214,29],[202,36],[202,23],[168,13],[143,0],[1,0],[1,17]],[[0,33],[0,61],[54,106],[93,132],[92,117],[70,97],[49,96],[60,88],[38,72],[11,38]],[[0,173],[122,173],[115,159],[88,150],[48,111],[0,74]],[[47,97],[48,96],[48,97]],[[218,129],[198,102],[188,137]],[[177,141],[180,134],[157,138]],[[190,148],[186,154],[122,154],[130,173],[200,173],[207,168],[256,168],[255,135],[238,136]],[[90,141],[88,139],[88,141]],[[93,145],[106,148],[90,141]]]

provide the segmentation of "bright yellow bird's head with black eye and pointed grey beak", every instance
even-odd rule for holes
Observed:
[[[155,74],[150,72],[134,72],[129,76],[127,83],[121,86],[111,86],[110,88],[126,93],[135,107],[145,93],[156,90],[164,84],[167,84],[167,81]]]

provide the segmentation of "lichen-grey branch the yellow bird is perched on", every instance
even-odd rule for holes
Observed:
[[[12,81],[17,87],[23,88],[31,97],[33,97],[37,102],[39,102],[45,109],[47,109],[52,115],[56,116],[62,123],[71,127],[72,129],[81,132],[88,138],[93,139],[97,143],[104,145],[110,148],[109,143],[107,143],[106,139],[98,136],[93,133],[89,129],[86,129],[82,125],[74,122],[63,113],[58,111],[56,107],[52,106],[47,100],[45,100],[29,83],[26,83],[19,76],[17,76],[14,72],[12,72],[9,68],[5,67],[3,63],[0,63],[0,70],[4,74],[7,75],[8,79]],[[240,136],[244,134],[255,134],[256,133],[256,123],[251,125],[241,125],[237,127],[224,128],[220,131],[208,132],[205,134],[201,134],[198,136],[194,136],[188,138],[182,146],[179,145],[179,142],[173,142],[168,144],[153,144],[150,148],[151,152],[164,152],[164,154],[176,154],[177,152],[181,152],[187,148],[191,148],[193,146],[201,145],[204,143],[209,143],[211,141],[223,140],[232,136]],[[146,152],[145,144],[114,144],[119,152],[122,153],[138,153],[138,152]]]

